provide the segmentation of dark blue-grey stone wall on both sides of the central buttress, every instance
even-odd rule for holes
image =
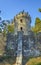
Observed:
[[[39,34],[40,35],[40,34]],[[37,38],[40,40],[39,35],[37,35]],[[17,46],[18,46],[18,35],[14,35],[9,33],[7,35],[7,49],[10,49],[13,53],[13,55],[17,54]],[[40,40],[41,41],[41,40]],[[39,47],[38,47],[39,46]],[[23,56],[39,56],[41,51],[41,42],[38,43],[38,40],[36,42],[36,38],[33,32],[30,32],[29,35],[23,35],[22,37],[22,52]],[[15,51],[15,52],[13,52]]]

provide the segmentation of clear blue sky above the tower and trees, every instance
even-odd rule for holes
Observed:
[[[0,16],[2,20],[11,20],[16,14],[24,10],[30,14],[31,25],[33,26],[36,17],[41,19],[38,8],[41,8],[41,0],[0,0]]]

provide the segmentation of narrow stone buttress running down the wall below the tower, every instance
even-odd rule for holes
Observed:
[[[16,65],[22,65],[22,31],[18,32],[18,48],[17,48]]]

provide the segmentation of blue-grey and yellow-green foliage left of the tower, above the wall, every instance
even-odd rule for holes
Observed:
[[[0,24],[0,32],[3,33],[3,36],[6,36],[8,32],[14,32],[14,23],[10,23],[9,20],[2,20]]]

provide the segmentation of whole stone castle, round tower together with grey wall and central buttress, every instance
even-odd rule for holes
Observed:
[[[37,38],[40,37],[40,34],[38,34],[37,38],[35,37],[35,34],[31,31],[31,17],[26,12],[21,12],[17,16],[14,17],[14,34],[9,33],[7,34],[7,44],[6,49],[10,50],[10,52],[7,52],[8,55],[17,56],[19,55],[19,58],[21,56],[25,57],[35,57],[41,55],[40,50],[37,49]],[[22,36],[22,37],[21,37]],[[39,43],[41,43],[41,39],[39,38]],[[21,44],[20,44],[21,43]],[[41,44],[40,44],[41,45]],[[18,59],[16,58],[16,65],[18,62]],[[23,65],[22,62],[18,65]]]

